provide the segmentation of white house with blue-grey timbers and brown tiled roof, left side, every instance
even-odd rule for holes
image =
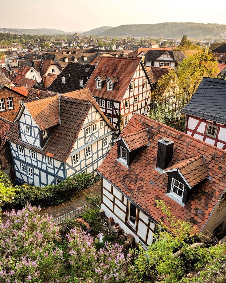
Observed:
[[[103,162],[114,127],[88,88],[24,103],[4,139],[17,183],[58,184]]]

